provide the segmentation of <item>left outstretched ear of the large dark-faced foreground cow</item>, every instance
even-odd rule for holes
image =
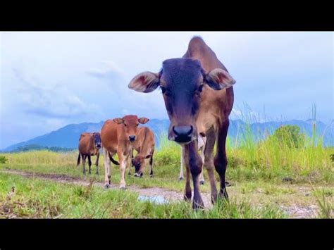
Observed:
[[[137,92],[148,93],[154,91],[159,85],[159,74],[147,71],[133,77],[128,87]]]

